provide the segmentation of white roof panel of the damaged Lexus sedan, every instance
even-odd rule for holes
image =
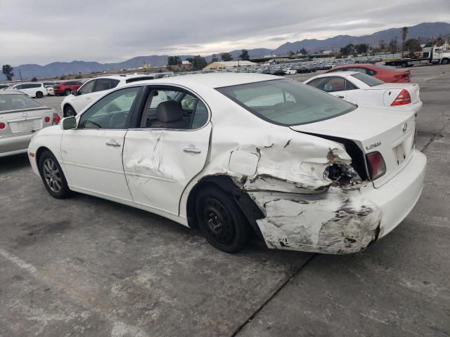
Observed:
[[[174,77],[163,77],[161,79],[148,79],[139,81],[139,84],[177,84],[180,86],[206,86],[209,88],[221,88],[223,86],[237,86],[273,79],[285,79],[269,74],[236,73],[236,72],[212,72],[207,74],[180,75]],[[137,84],[133,82],[131,84]]]

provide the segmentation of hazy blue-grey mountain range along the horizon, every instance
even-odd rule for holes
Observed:
[[[446,22],[423,22],[415,26],[408,28],[408,37],[431,38],[439,37],[450,34],[450,24]],[[276,49],[268,48],[254,48],[249,49],[248,53],[250,58],[258,58],[263,55],[286,54],[289,51],[300,51],[305,48],[307,51],[314,53],[317,51],[328,51],[333,49],[339,49],[347,44],[369,44],[371,46],[378,46],[380,40],[389,42],[391,39],[397,38],[399,44],[401,44],[401,28],[391,28],[375,32],[370,35],[363,35],[361,37],[352,37],[350,35],[338,35],[329,39],[303,39],[302,41],[286,42]],[[240,50],[231,51],[233,58],[237,58],[240,54]],[[218,54],[219,55],[219,54]],[[192,55],[181,55],[181,60]],[[101,72],[103,70],[120,70],[141,67],[143,62],[146,62],[153,66],[162,66],[167,64],[168,55],[149,55],[149,56],[137,56],[123,62],[116,63],[99,63],[99,62],[86,62],[86,61],[72,61],[72,62],[52,62],[48,65],[36,65],[27,64],[14,67],[15,79],[19,78],[19,71],[23,79],[37,78],[49,78],[57,77],[62,74],[82,74],[91,72]],[[212,55],[208,55],[205,59],[209,62]],[[0,74],[0,80],[5,80],[3,74]]]

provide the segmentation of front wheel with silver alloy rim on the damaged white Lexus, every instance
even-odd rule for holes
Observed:
[[[56,199],[70,197],[71,191],[61,166],[50,151],[44,151],[39,158],[39,173],[49,194]]]

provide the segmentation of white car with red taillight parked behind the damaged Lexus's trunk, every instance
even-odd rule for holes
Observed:
[[[304,84],[357,105],[400,108],[415,114],[422,108],[418,84],[385,83],[361,72],[330,72]]]

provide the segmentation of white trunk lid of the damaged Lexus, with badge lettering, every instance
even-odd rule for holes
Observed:
[[[364,154],[380,152],[385,160],[386,173],[373,180],[373,185],[380,187],[408,164],[413,154],[416,120],[413,112],[406,110],[358,107],[332,119],[290,128],[353,140]]]

